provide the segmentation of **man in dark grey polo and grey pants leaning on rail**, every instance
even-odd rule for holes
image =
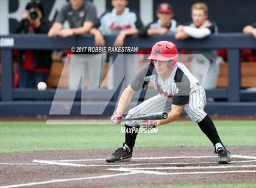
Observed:
[[[68,21],[70,29],[63,29],[63,24]],[[90,33],[91,28],[97,21],[96,8],[90,1],[70,0],[60,10],[48,36],[76,36]],[[94,32],[95,41],[104,42],[101,33]],[[99,38],[101,38],[99,40]],[[104,45],[99,44],[98,45]],[[88,74],[88,89],[98,89],[101,78],[101,54],[74,54],[70,59],[69,89],[77,89],[82,78],[84,87],[85,73]]]

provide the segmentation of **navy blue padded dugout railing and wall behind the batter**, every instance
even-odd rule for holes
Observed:
[[[115,36],[105,36],[106,45],[112,46]],[[155,42],[169,40],[177,44],[179,49],[227,49],[229,62],[229,87],[207,90],[207,97],[226,99],[223,102],[210,102],[207,104],[206,112],[213,115],[255,115],[256,114],[256,92],[249,92],[240,89],[240,49],[256,49],[256,41],[251,35],[241,33],[221,33],[212,35],[205,39],[188,39],[187,41],[176,41],[172,35],[151,36],[149,38],[138,38],[137,36],[127,37],[125,46],[139,47],[140,49],[151,49]],[[0,116],[37,116],[49,115],[55,89],[48,89],[39,92],[37,89],[13,89],[12,73],[12,50],[13,49],[70,49],[71,46],[93,46],[94,38],[91,35],[72,36],[69,38],[48,38],[46,35],[2,35],[1,62],[2,62],[2,88],[0,89]],[[124,67],[118,65],[115,71],[116,80],[123,77]],[[92,111],[105,107],[103,116],[110,116],[115,110],[119,93],[124,90],[124,86],[116,82],[117,90],[88,91],[85,90],[86,108]],[[62,89],[62,99],[72,98],[74,92]],[[145,92],[142,90],[141,92]],[[139,98],[137,92],[135,98]],[[81,92],[77,91],[76,100],[70,107],[70,112],[66,115],[81,115]],[[154,89],[149,89],[145,98],[155,95]],[[82,97],[83,98],[83,97]],[[111,99],[111,100],[109,100]],[[129,107],[135,106],[137,101],[132,101]],[[128,107],[128,109],[129,109]],[[60,109],[65,105],[60,104]],[[60,116],[58,114],[55,114]],[[98,114],[99,115],[99,114]],[[92,116],[92,115],[88,115]]]

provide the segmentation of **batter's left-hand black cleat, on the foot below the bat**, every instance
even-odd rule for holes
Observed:
[[[132,152],[129,152],[126,147],[120,147],[115,150],[112,155],[106,158],[107,163],[116,163],[116,162],[123,162],[123,161],[130,161],[132,159]]]

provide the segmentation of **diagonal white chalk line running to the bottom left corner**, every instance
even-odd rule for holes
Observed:
[[[37,185],[41,185],[41,184],[60,183],[60,182],[66,182],[66,181],[81,181],[81,180],[93,180],[93,179],[98,179],[98,178],[112,178],[115,176],[133,175],[133,174],[137,174],[137,173],[138,172],[128,172],[128,173],[117,173],[117,174],[111,174],[111,175],[101,175],[101,176],[92,176],[92,177],[84,177],[84,178],[49,180],[49,181],[40,181],[40,182],[34,182],[34,183],[24,183],[24,184],[15,184],[15,185],[9,185],[9,186],[0,186],[0,188],[37,186]]]

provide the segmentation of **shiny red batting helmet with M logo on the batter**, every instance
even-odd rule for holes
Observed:
[[[175,44],[169,41],[159,41],[152,47],[151,55],[148,59],[158,61],[170,61],[170,68],[175,67],[178,59],[178,50]]]

